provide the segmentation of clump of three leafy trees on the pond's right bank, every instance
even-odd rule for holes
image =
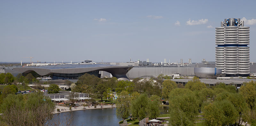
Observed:
[[[145,117],[156,119],[160,114],[160,97],[157,95],[147,96],[146,93],[133,92],[129,94],[122,91],[116,102],[116,116],[127,119],[132,114],[133,119],[141,120]]]

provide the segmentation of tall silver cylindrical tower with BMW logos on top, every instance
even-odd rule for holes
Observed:
[[[250,27],[240,19],[225,19],[215,28],[216,68],[226,76],[250,75]]]

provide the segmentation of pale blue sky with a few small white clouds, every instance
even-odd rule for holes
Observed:
[[[250,26],[256,62],[255,1],[1,1],[0,62],[215,61],[215,27]]]

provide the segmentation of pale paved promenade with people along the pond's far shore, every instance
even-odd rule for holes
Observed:
[[[58,108],[60,109],[60,112],[57,112]],[[66,111],[64,110],[65,108],[66,108]],[[103,107],[97,106],[96,108],[94,108],[94,106],[92,106],[92,107],[89,108],[88,106],[86,106],[85,108],[86,109],[84,109],[83,106],[79,106],[79,107],[77,107],[77,109],[72,107],[72,110],[70,111],[69,107],[56,105],[53,114],[64,113],[64,112],[72,112],[72,111],[80,111],[80,110],[88,110],[88,109],[103,109],[103,108],[115,108],[115,107],[112,107],[111,105],[104,105]],[[63,111],[61,111],[61,109],[63,109]]]

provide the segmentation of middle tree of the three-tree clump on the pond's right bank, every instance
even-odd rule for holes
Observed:
[[[144,119],[148,115],[148,97],[147,95],[140,94],[140,96],[132,100],[131,112],[133,117],[138,117],[139,120]]]

